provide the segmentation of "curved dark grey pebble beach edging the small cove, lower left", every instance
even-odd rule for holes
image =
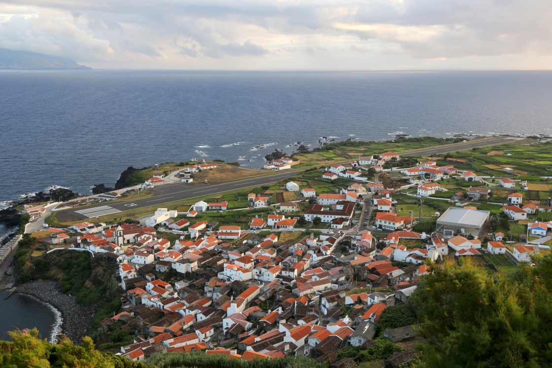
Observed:
[[[60,333],[74,343],[80,343],[92,328],[94,306],[78,304],[76,297],[63,294],[55,281],[38,280],[24,283],[17,287],[17,292],[35,297],[56,308],[62,316]]]

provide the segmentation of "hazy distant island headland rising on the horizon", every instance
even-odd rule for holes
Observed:
[[[87,70],[75,60],[37,54],[36,52],[0,49],[0,70]]]

